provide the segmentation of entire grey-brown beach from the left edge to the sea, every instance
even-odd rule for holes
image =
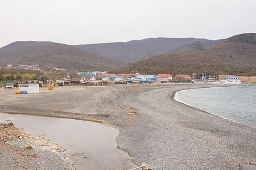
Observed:
[[[255,129],[172,99],[176,91],[220,85],[120,87],[59,87],[29,97],[3,92],[0,107],[3,112],[104,121],[120,130],[118,148],[137,165],[146,163],[152,169],[237,169],[256,164]]]

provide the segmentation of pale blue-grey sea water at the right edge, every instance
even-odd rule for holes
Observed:
[[[196,88],[175,100],[216,116],[256,128],[256,86]]]

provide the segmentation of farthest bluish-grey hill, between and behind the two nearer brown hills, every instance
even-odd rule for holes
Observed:
[[[133,61],[137,61],[139,59],[156,56],[158,54],[174,52],[179,48],[183,48],[183,46],[186,44],[189,45],[196,42],[200,42],[200,49],[207,48],[208,46],[217,43],[217,41],[193,38],[151,38],[128,42],[86,44],[76,46],[101,56],[115,59],[119,62],[130,63],[131,53],[133,53]]]

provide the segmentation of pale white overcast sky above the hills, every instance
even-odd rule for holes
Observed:
[[[27,40],[225,39],[255,33],[255,9],[255,0],[0,0],[0,47]]]

